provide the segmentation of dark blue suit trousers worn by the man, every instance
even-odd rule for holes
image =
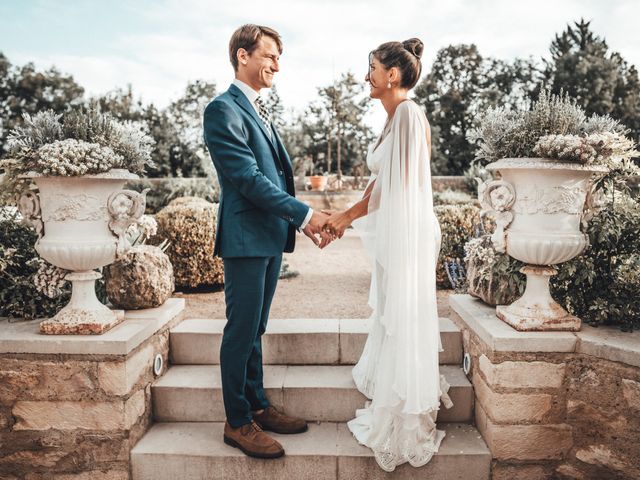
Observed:
[[[227,323],[220,345],[222,396],[233,428],[251,423],[252,410],[269,406],[264,393],[262,334],[280,276],[282,254],[224,258]]]

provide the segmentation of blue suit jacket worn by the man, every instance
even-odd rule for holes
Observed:
[[[204,111],[204,138],[220,181],[214,255],[271,257],[292,252],[309,207],[294,198],[293,169],[278,133],[272,139],[235,85]]]

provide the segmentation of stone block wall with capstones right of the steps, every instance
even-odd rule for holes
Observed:
[[[467,295],[451,308],[494,480],[640,478],[640,334],[517,332]]]

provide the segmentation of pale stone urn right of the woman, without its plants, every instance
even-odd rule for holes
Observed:
[[[482,215],[496,220],[496,250],[527,265],[524,294],[496,315],[521,331],[580,330],[581,321],[549,292],[555,265],[580,255],[588,246],[581,225],[587,221],[593,175],[607,168],[545,158],[505,158],[487,166],[500,180],[478,187]]]

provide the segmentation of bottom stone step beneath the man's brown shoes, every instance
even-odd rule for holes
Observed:
[[[344,423],[313,423],[297,435],[273,436],[285,456],[261,460],[223,440],[222,423],[158,423],[131,451],[133,480],[488,480],[491,453],[471,425],[439,423],[438,453],[426,465],[400,465],[386,473],[371,450],[359,445]]]

